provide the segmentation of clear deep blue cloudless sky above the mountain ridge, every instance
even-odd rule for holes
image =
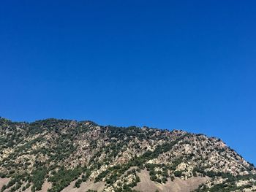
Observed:
[[[256,1],[1,1],[0,115],[178,128],[256,164]]]

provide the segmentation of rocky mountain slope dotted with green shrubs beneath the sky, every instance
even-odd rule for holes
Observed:
[[[1,191],[256,191],[256,169],[222,140],[91,121],[0,118]]]

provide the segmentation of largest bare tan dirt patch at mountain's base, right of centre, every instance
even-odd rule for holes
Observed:
[[[140,182],[134,189],[142,192],[155,192],[156,190],[161,192],[190,192],[208,180],[207,177],[191,177],[188,180],[181,180],[176,177],[173,181],[168,178],[167,183],[160,184],[151,181],[146,170],[141,170],[138,176],[140,177]]]

